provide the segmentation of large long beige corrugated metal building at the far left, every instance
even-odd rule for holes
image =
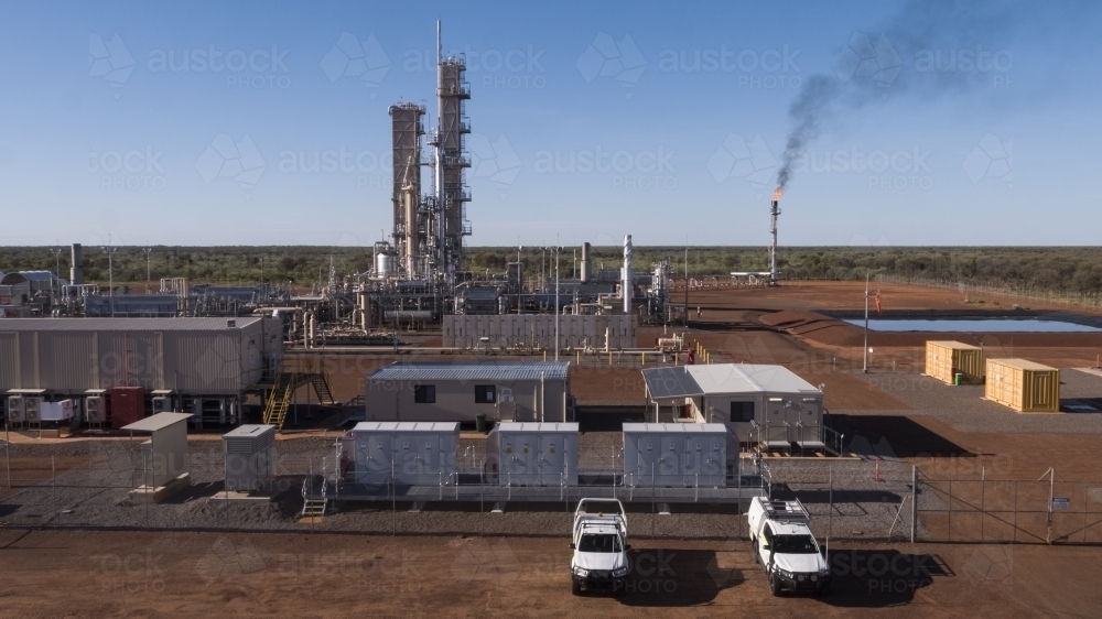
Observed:
[[[238,395],[283,358],[277,318],[0,321],[0,392],[84,394],[112,387]]]

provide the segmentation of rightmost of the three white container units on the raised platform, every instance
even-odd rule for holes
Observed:
[[[730,433],[722,423],[625,423],[625,484],[724,488]]]

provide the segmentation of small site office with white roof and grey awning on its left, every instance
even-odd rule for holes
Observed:
[[[761,449],[839,450],[823,427],[823,392],[781,366],[714,363],[642,370],[655,421],[661,404],[674,419],[722,423],[732,432],[728,457],[737,443]]]

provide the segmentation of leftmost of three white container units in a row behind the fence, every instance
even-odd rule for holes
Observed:
[[[363,422],[348,438],[358,484],[455,484],[457,422]]]

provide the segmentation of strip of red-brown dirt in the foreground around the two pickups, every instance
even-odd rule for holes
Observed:
[[[827,597],[771,597],[744,542],[633,544],[570,595],[564,539],[0,531],[0,617],[1093,617],[1102,550],[835,545]],[[1069,565],[1077,568],[1069,571]]]

